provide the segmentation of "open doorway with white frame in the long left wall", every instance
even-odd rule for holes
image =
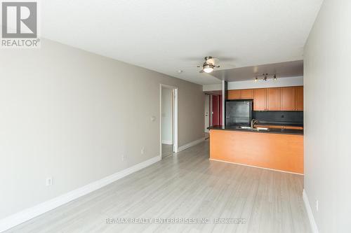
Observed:
[[[160,85],[160,154],[173,155],[178,150],[178,88]]]

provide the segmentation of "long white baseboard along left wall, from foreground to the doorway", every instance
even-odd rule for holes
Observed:
[[[57,208],[58,206],[62,206],[68,202],[71,202],[74,199],[77,199],[81,196],[87,195],[90,192],[98,190],[99,188],[104,187],[105,185],[109,185],[110,183],[119,180],[120,178],[124,178],[129,174],[132,174],[135,171],[139,171],[145,167],[154,164],[155,162],[159,162],[161,160],[161,156],[153,157],[150,160],[146,160],[145,162],[140,162],[139,164],[135,164],[132,167],[128,167],[122,171],[119,171],[111,176],[106,176],[105,178],[100,179],[99,181],[95,181],[93,183],[89,183],[88,185],[84,185],[77,190],[72,190],[71,192],[67,192],[64,195],[59,197],[55,197],[47,202],[43,202],[38,204],[37,206],[33,206],[31,208],[25,209],[18,213],[13,214],[12,216],[8,216],[0,220],[0,232],[10,229],[11,227],[15,227],[21,223],[25,223],[27,220],[35,218],[47,211],[51,211],[52,209]]]

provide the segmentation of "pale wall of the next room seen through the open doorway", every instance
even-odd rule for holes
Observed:
[[[162,87],[162,143],[173,144],[173,90]]]

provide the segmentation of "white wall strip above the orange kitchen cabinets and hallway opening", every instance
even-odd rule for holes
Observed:
[[[272,78],[264,80],[254,80],[238,81],[238,82],[228,82],[228,90],[239,90],[239,89],[251,89],[251,88],[267,88],[267,87],[293,87],[302,86],[303,76],[289,77],[289,78],[277,78],[273,80]],[[203,85],[202,90],[204,92],[211,92],[214,90],[222,90],[221,84],[211,84]]]

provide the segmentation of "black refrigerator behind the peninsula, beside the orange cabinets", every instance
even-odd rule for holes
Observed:
[[[252,100],[226,100],[225,126],[250,126]]]

